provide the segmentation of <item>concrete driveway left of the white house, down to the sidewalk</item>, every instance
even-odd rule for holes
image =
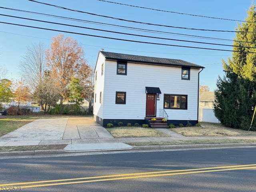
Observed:
[[[113,138],[92,117],[38,119],[0,137],[0,142]]]

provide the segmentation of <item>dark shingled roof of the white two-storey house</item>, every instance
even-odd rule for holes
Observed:
[[[106,60],[114,61],[127,61],[132,63],[143,63],[143,64],[153,64],[160,66],[182,66],[191,68],[204,68],[203,66],[196,65],[194,63],[186,62],[179,59],[166,59],[157,57],[146,57],[138,55],[127,55],[120,53],[104,52],[100,51],[106,58]]]

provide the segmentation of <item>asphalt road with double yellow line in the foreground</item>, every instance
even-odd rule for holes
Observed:
[[[24,192],[255,192],[255,176],[256,148],[0,160],[0,189]]]

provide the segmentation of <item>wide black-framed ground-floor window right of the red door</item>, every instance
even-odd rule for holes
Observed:
[[[187,109],[187,95],[164,94],[164,108],[167,109]]]

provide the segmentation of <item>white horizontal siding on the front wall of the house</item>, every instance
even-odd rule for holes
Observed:
[[[101,61],[98,61],[101,70]],[[116,74],[117,62],[105,61],[104,90],[101,109],[104,119],[144,119],[146,115],[145,87],[159,87],[162,94],[156,101],[156,116],[164,108],[164,94],[187,95],[186,110],[165,109],[169,120],[197,120],[198,69],[190,69],[190,80],[181,79],[182,68],[127,64],[127,75]],[[97,79],[98,81],[98,79]],[[103,83],[101,82],[101,83]],[[97,82],[99,84],[99,81]],[[101,85],[103,86],[103,85]],[[126,92],[126,104],[116,103],[116,92]],[[97,92],[98,95],[100,91]],[[100,112],[100,113],[101,113]],[[99,115],[97,115],[99,116]]]

